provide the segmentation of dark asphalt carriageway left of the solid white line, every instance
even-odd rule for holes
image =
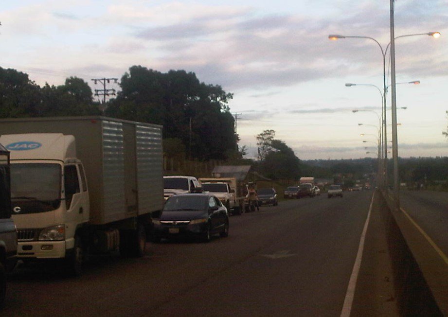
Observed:
[[[95,257],[78,279],[19,267],[1,316],[340,316],[372,193],[263,206],[227,238]]]

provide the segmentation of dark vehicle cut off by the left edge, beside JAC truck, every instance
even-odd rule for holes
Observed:
[[[0,308],[6,294],[6,271],[17,262],[17,230],[11,219],[9,152],[0,144]]]

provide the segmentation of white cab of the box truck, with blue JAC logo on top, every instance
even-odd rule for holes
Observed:
[[[0,142],[11,152],[18,257],[25,262],[63,258],[73,270],[80,269],[82,237],[76,233],[89,221],[90,204],[74,137],[60,133],[2,135]]]

